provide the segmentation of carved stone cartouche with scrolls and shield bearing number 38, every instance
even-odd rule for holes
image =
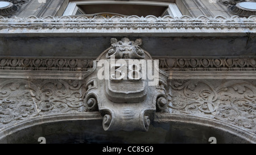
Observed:
[[[118,41],[113,38],[111,43],[95,61],[94,72],[86,77],[88,83],[90,79],[95,82],[87,90],[86,103],[89,109],[100,111],[105,131],[148,131],[156,104],[165,107],[166,95],[159,79],[166,83],[167,76],[159,72],[159,62],[154,62],[139,47],[141,39],[130,41],[125,37]],[[149,79],[148,74],[153,79]],[[91,107],[94,103],[97,107]]]

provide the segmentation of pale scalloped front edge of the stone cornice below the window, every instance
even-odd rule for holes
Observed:
[[[191,18],[181,16],[172,18],[164,16],[156,18],[149,15],[146,17],[113,16],[104,18],[96,16],[87,18],[86,16],[46,16],[37,18],[29,16],[27,18],[4,18],[0,16],[0,34],[16,35],[30,34],[30,36],[68,36],[80,34],[82,36],[109,36],[109,35],[136,35],[140,36],[220,36],[226,35],[247,35],[256,32],[256,16],[249,18],[239,18],[232,16],[216,16],[208,18],[199,16]]]

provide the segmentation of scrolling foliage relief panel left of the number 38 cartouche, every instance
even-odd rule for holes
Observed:
[[[0,83],[0,128],[36,116],[89,111],[85,83],[77,80],[9,79]]]

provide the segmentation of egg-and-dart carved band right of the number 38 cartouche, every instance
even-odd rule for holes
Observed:
[[[256,70],[255,58],[168,58],[160,59],[159,67],[174,71],[200,71],[200,70]]]

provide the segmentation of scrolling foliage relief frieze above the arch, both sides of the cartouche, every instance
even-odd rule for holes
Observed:
[[[97,110],[97,101],[86,98],[89,83],[92,81],[1,80],[0,128],[40,116]],[[167,98],[158,98],[158,111],[216,119],[256,133],[255,81],[171,80],[164,87],[160,90]]]

